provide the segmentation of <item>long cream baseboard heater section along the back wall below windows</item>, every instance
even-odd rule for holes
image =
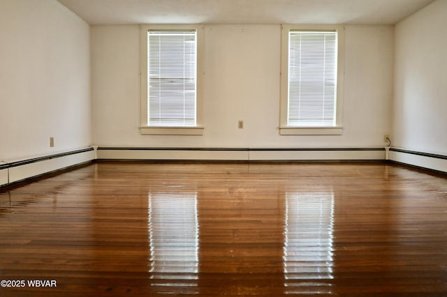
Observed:
[[[118,148],[99,147],[99,160],[305,161],[385,160],[384,148]]]

